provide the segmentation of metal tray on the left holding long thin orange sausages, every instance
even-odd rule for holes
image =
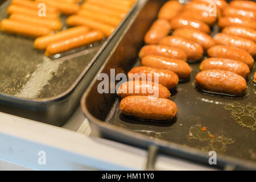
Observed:
[[[8,17],[10,2],[0,4],[0,20]],[[79,105],[82,93],[113,49],[136,6],[137,3],[131,7],[108,39],[72,49],[57,59],[36,51],[34,39],[0,32],[0,111],[63,125]],[[61,21],[67,28],[65,18],[61,16]]]

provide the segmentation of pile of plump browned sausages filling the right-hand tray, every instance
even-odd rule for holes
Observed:
[[[137,81],[140,89],[148,88],[148,84],[143,85],[138,79],[131,78],[130,73],[158,76],[159,89],[152,89],[151,86],[151,90],[158,90],[161,94],[151,101],[148,93],[119,93],[123,98],[119,109],[142,119],[173,118],[177,107],[165,101],[169,95],[166,89],[175,88],[179,80],[188,80],[191,67],[186,61],[201,61],[204,52],[208,53],[209,58],[200,65],[196,85],[212,93],[244,94],[247,89],[245,79],[256,55],[255,15],[256,3],[252,1],[232,1],[228,4],[224,0],[192,0],[185,5],[178,1],[167,1],[144,37],[146,46],[139,52],[142,66],[128,73],[129,80],[133,80],[129,82],[134,85],[134,81]],[[212,38],[209,35],[210,27],[217,20],[223,30]],[[127,90],[129,82],[121,88]]]

